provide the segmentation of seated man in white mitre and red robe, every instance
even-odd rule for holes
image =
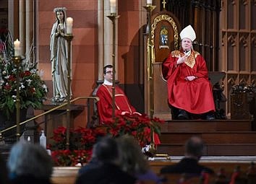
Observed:
[[[182,48],[172,51],[163,62],[163,76],[167,79],[168,103],[178,109],[178,119],[189,114],[213,120],[215,105],[212,86],[208,80],[205,59],[192,48],[195,30],[189,25],[180,33]]]

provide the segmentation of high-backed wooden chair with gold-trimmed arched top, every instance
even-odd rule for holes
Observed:
[[[150,104],[148,102],[153,101],[153,115],[161,119],[170,120],[171,110],[168,107],[166,81],[162,76],[162,63],[171,51],[179,49],[179,32],[181,28],[174,14],[166,10],[153,15],[151,28],[153,99],[149,99],[150,92],[147,88],[149,82],[145,80],[145,106],[149,110]],[[147,72],[148,64],[145,65],[145,74]],[[148,77],[145,76],[145,79],[148,79]]]

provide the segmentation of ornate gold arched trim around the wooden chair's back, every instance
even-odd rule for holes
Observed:
[[[152,49],[153,49],[153,56],[152,56],[152,63],[155,62],[155,27],[158,24],[158,22],[161,22],[163,20],[166,20],[167,22],[169,22],[174,30],[174,48],[178,49],[179,48],[179,33],[178,33],[178,29],[176,26],[176,23],[174,22],[174,19],[171,18],[168,14],[161,14],[158,15],[158,17],[155,17],[153,24],[151,25],[152,30],[150,32],[151,34],[151,43],[152,43]]]

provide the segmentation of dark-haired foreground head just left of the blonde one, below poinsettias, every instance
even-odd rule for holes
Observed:
[[[116,140],[111,137],[103,137],[93,147],[93,154],[100,162],[114,162],[119,157]]]

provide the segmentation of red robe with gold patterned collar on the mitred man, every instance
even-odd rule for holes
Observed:
[[[200,53],[192,51],[186,63],[176,65],[179,55],[184,56],[183,51],[173,51],[163,63],[169,104],[193,114],[215,111],[205,59]],[[197,79],[187,81],[186,76],[196,76]]]

